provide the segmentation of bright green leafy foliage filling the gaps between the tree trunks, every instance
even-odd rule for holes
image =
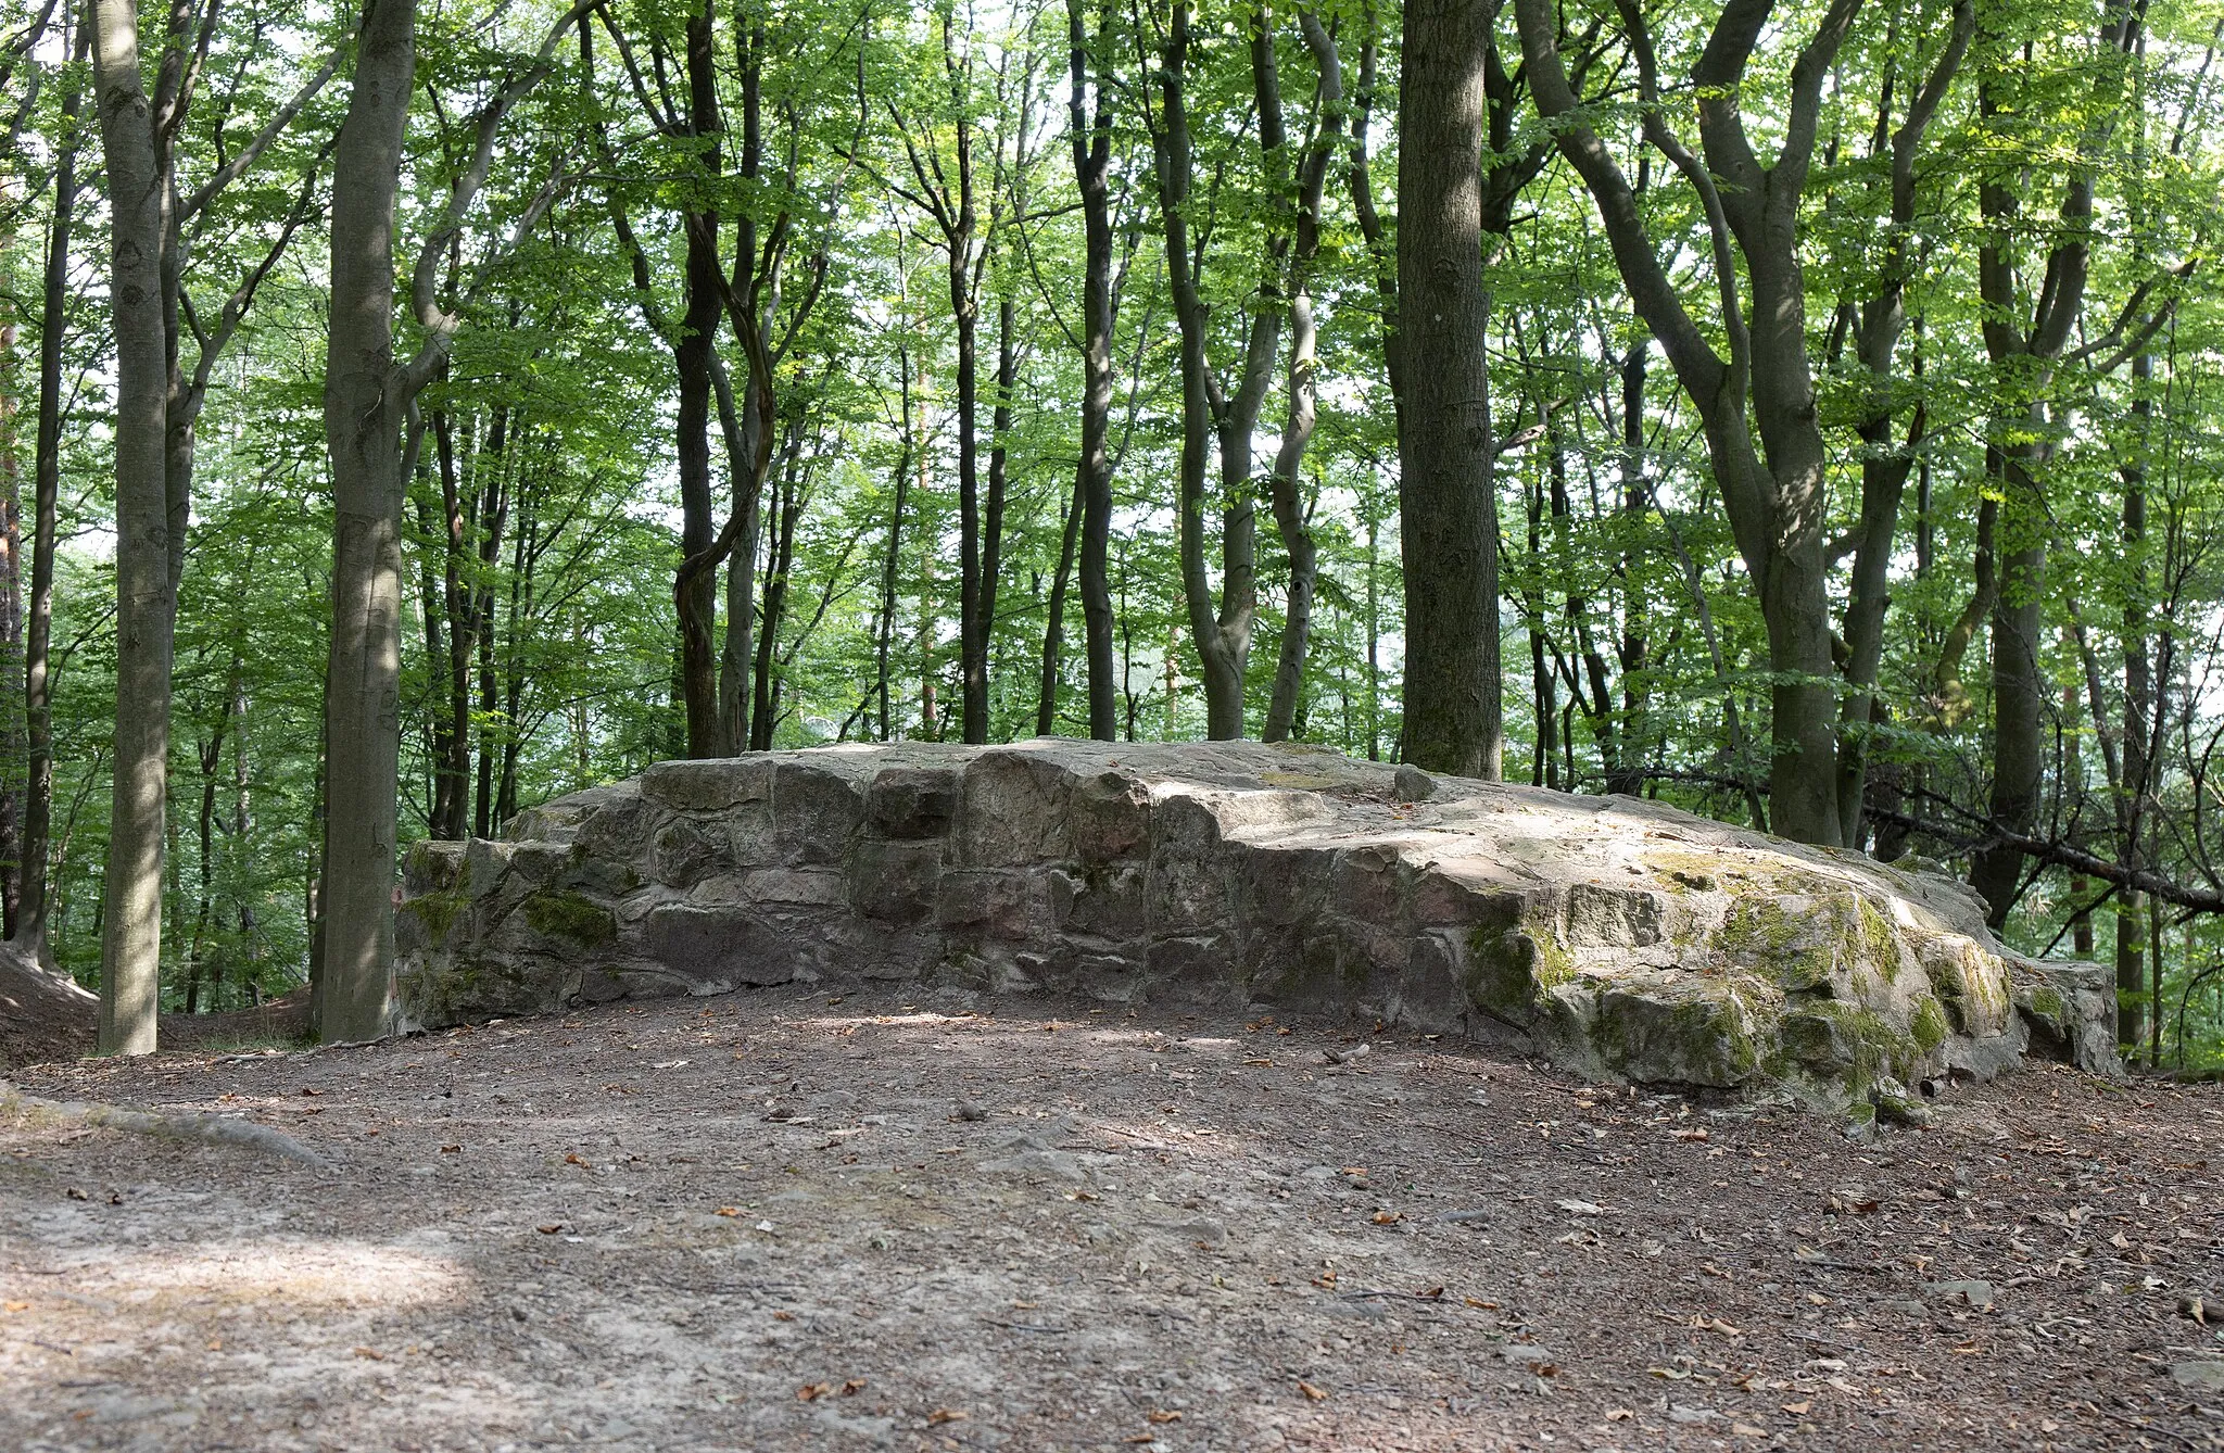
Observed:
[[[1159,105],[1152,76],[1170,11],[1163,2],[1076,4],[1085,58],[1112,80],[1116,719],[1125,737],[1197,737],[1201,672],[1174,545],[1179,338],[1145,116]],[[1637,160],[1626,18],[1604,0],[1563,9],[1570,53],[1588,36],[1590,122],[1626,171],[1644,178],[1637,207],[1661,240],[1672,285],[1724,349],[1730,329],[1701,198],[1659,151]],[[1764,151],[1781,140],[1793,51],[1821,11],[1813,0],[1779,7],[1739,89]],[[556,13],[549,0],[420,13],[420,100],[400,218],[403,349],[420,343],[409,305],[414,249],[436,234],[471,160],[474,116],[505,80],[534,76],[529,51]],[[763,739],[787,748],[956,734],[956,434],[965,421],[947,238],[921,176],[954,187],[961,149],[979,214],[967,254],[983,343],[974,429],[983,472],[999,452],[1005,481],[990,737],[1034,730],[1059,594],[1052,721],[1061,732],[1088,730],[1081,592],[1065,559],[1083,387],[1065,7],[858,11],[749,0],[718,11],[718,136],[672,125],[689,13],[672,0],[618,0],[589,18],[585,53],[567,36],[498,134],[485,196],[427,256],[427,287],[465,325],[418,401],[425,434],[403,501],[396,730],[405,837],[456,823],[496,834],[523,808],[627,777],[685,745],[674,703],[672,345],[687,211],[718,216],[729,271],[743,223],[754,256],[781,258],[763,318],[778,349],[772,463],[754,541],[756,592],[741,603],[765,641],[761,663],[743,668],[761,681],[752,712],[770,723]],[[1688,76],[1715,13],[1657,4],[1648,16],[1661,118],[1679,134],[1697,129]],[[2042,576],[1993,579],[2002,599],[2042,605],[2037,659],[2053,748],[2037,830],[2106,861],[2135,846],[2164,879],[2202,883],[2213,881],[2204,846],[2220,725],[2211,672],[2224,601],[2215,483],[2224,474],[2224,312],[2208,285],[2224,234],[2224,76],[2204,60],[2217,7],[2148,4],[2139,45],[2104,36],[2117,13],[2099,0],[1982,7],[1968,58],[1915,151],[1906,227],[1890,220],[1890,136],[1948,49],[1950,7],[1864,7],[1857,16],[1821,89],[1821,145],[1799,218],[1806,352],[1828,449],[1817,507],[1826,541],[1850,538],[1864,472],[1879,461],[1908,467],[1886,570],[1879,710],[1844,728],[1870,757],[1864,846],[1959,863],[1982,841],[1997,650],[1982,572],[1999,576],[2008,552],[2044,541]],[[1366,162],[1381,216],[1361,214],[1350,185],[1357,156],[1339,156],[1310,278],[1319,425],[1301,494],[1319,581],[1297,737],[1394,757],[1408,581],[1381,280],[1397,256],[1399,16],[1359,0],[1321,4],[1314,16],[1334,38],[1343,118],[1370,118]],[[1290,122],[1290,145],[1268,156],[1252,69],[1261,18]],[[291,0],[222,9],[205,93],[180,131],[187,180],[238,156],[300,76],[342,42],[345,24],[345,13]],[[1197,9],[1192,27],[1183,76],[1197,154],[1185,220],[1210,352],[1232,369],[1248,323],[1283,305],[1270,240],[1292,223],[1294,156],[1321,127],[1326,102],[1294,11],[1214,2]],[[1512,73],[1510,7],[1499,51]],[[0,378],[0,396],[16,401],[13,412],[0,407],[0,454],[18,461],[18,496],[33,434],[27,401],[62,80],[56,42],[33,56],[0,91],[0,113],[11,113],[29,96],[27,76],[42,71],[24,113],[27,142],[0,185],[0,320],[18,327]],[[331,541],[320,414],[329,238],[320,218],[331,187],[347,185],[322,176],[345,82],[342,60],[340,78],[189,225],[187,296],[209,325],[298,198],[311,202],[211,376],[200,418],[176,630],[171,1008],[234,1008],[309,970]],[[754,167],[743,136],[752,96]],[[1512,167],[1548,140],[1519,87],[1510,96],[1490,138],[1492,165]],[[1083,98],[1085,116],[1094,100],[1094,91]],[[2091,187],[2088,218],[2064,211],[2066,185]],[[1986,205],[1988,187],[2013,205]],[[73,243],[82,287],[62,336],[53,614],[51,937],[80,979],[98,972],[116,708],[98,216],[89,205]],[[1508,777],[1644,792],[1750,821],[1766,812],[1768,721],[1784,679],[1768,670],[1761,592],[1739,559],[1699,418],[1628,303],[1590,196],[1548,151],[1510,216],[1510,229],[1488,238],[1495,314],[1483,340],[1492,421],[1508,445],[1497,456]],[[620,218],[638,258],[620,240]],[[1906,260],[1906,327],[1875,369],[1861,360],[1859,329],[1895,256]],[[2028,318],[2071,260],[2088,269],[2088,287],[2059,354],[1988,349],[1986,329],[2010,314]],[[1995,280],[2008,303],[1984,303],[1986,267],[2004,269]],[[1016,356],[1010,425],[996,434],[1005,300]],[[716,347],[736,407],[747,409],[749,360],[732,316]],[[1263,721],[1292,583],[1290,552],[1263,510],[1285,392],[1281,358],[1268,360],[1265,387],[1254,478],[1237,498],[1208,505],[1214,538],[1225,507],[1261,505],[1250,730]],[[1888,427],[1864,434],[1877,416]],[[716,421],[709,445],[723,521],[736,501]],[[2033,456],[2028,496],[2010,498],[2004,485],[2006,449]],[[2126,525],[2131,494],[2146,510],[2137,532]],[[1844,612],[1850,556],[1817,567],[1828,572],[1833,612]],[[1217,561],[1212,576],[1217,587]],[[721,587],[721,639],[732,625]],[[2153,681],[2146,699],[2131,685],[2139,661]],[[1837,685],[1841,699],[1855,696]],[[2142,723],[2148,781],[2126,785],[2126,732]],[[4,757],[20,754],[9,748]],[[0,785],[20,792],[20,770]],[[2117,917],[2115,903],[2099,901],[2104,888],[2059,868],[2035,872],[2006,937],[2031,952],[2064,952],[2068,919],[2086,908],[2095,952],[2106,957]],[[543,912],[549,930],[580,928],[547,903],[529,912]],[[1784,926],[1750,930],[1766,939]],[[2224,975],[2204,977],[2224,957],[2217,932],[2206,915],[2180,921],[2171,910],[2162,952],[2142,961],[2148,972],[2160,963],[2160,995],[2151,984],[2139,995],[2142,1008],[2160,1008],[2168,1061],[2224,1059]],[[1917,1037],[1928,1032],[1919,1017]]]

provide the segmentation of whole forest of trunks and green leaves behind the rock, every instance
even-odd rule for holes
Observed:
[[[0,881],[385,1028],[667,757],[1263,737],[1955,872],[2224,1059],[2215,0],[4,0]]]

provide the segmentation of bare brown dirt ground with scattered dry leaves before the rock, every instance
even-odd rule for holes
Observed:
[[[9,1449],[2224,1449],[2215,1086],[919,990],[16,1079],[331,1168],[0,1117]]]

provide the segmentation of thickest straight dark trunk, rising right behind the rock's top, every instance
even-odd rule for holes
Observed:
[[[1499,525],[1483,280],[1483,65],[1497,4],[1410,0],[1399,73],[1401,757],[1499,779]],[[1426,363],[1423,363],[1426,360]]]

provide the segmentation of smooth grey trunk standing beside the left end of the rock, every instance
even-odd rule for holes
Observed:
[[[314,990],[327,1044],[394,1026],[394,830],[400,752],[403,405],[394,369],[394,198],[416,71],[416,0],[369,0],[334,154],[331,654],[325,685],[325,932]]]

